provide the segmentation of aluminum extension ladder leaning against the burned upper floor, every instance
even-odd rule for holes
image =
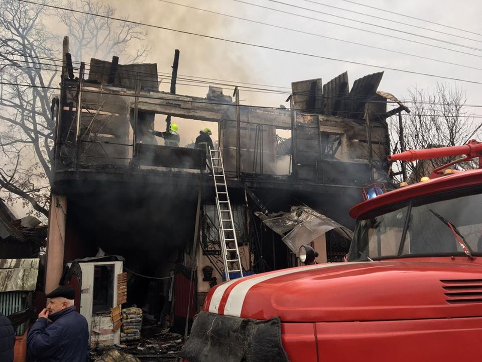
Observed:
[[[224,262],[224,274],[226,281],[232,279],[232,274],[239,273],[243,277],[243,266],[239,257],[237,247],[236,231],[232,218],[231,203],[227,193],[226,177],[220,150],[213,150],[209,147],[209,156],[212,166],[212,177],[214,189],[216,190],[216,209],[219,219],[219,241],[221,243],[221,254]]]

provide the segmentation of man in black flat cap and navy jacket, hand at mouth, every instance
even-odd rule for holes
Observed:
[[[89,330],[85,318],[75,310],[75,290],[59,287],[46,297],[50,302],[27,337],[29,357],[38,362],[85,362]]]

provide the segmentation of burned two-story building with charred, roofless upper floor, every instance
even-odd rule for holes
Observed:
[[[188,119],[196,129],[202,121],[217,125],[213,141],[224,161],[245,274],[297,263],[283,232],[255,213],[266,221],[303,206],[350,229],[347,211],[362,199],[362,188],[387,181],[387,118],[406,109],[378,91],[383,72],[355,80],[351,89],[347,73],[325,84],[294,82],[286,108],[252,107],[240,105],[242,87],[233,97],[216,87],[206,88],[205,98],[160,92],[156,64],[91,59],[74,74],[68,53],[65,40],[46,289],[57,285],[66,263],[93,257],[98,248],[122,256],[116,260],[128,275],[127,303],[162,318],[192,316],[222,281],[210,160],[192,145],[159,144],[150,132],[156,116]],[[387,112],[388,103],[396,108]],[[333,232],[316,245],[324,261],[337,261],[349,240]],[[82,293],[93,290],[93,304],[113,306],[116,292],[107,284],[117,269],[105,266],[111,259],[100,260],[93,285],[85,287],[81,273],[68,277],[76,276]]]

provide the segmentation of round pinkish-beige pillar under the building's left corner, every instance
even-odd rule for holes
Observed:
[[[62,277],[64,268],[65,223],[67,220],[67,197],[52,194],[50,202],[45,267],[45,293],[50,293],[57,288]]]

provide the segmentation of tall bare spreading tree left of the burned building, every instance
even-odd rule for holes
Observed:
[[[39,3],[0,4],[0,191],[8,202],[21,198],[38,216],[48,216],[55,130],[51,99],[60,93],[61,36],[49,31],[44,17],[59,16],[69,25],[79,59],[82,52],[105,56],[113,51],[128,57],[130,43],[146,33],[119,22],[98,22],[93,16],[49,13],[43,6],[47,1]],[[96,14],[115,13],[97,0],[82,0],[80,5]],[[145,51],[131,59],[142,59]]]

